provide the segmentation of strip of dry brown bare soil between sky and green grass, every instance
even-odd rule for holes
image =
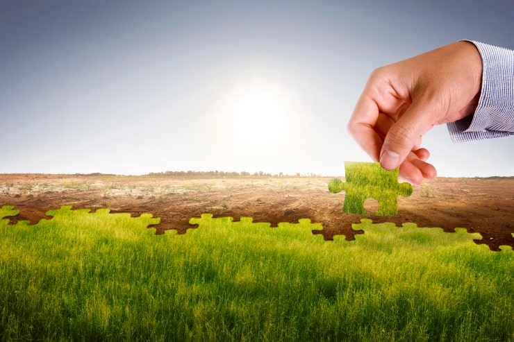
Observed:
[[[345,193],[331,194],[329,177],[194,178],[165,176],[0,174],[0,207],[15,205],[18,216],[10,223],[50,219],[47,210],[62,205],[73,209],[108,207],[111,212],[132,216],[151,213],[160,217],[156,234],[174,229],[184,234],[194,229],[189,219],[202,213],[215,217],[252,216],[254,222],[295,223],[311,219],[322,223],[323,234],[354,239],[351,223],[372,219],[375,223],[416,223],[418,227],[440,227],[447,232],[466,228],[479,232],[491,250],[514,248],[514,178],[437,178],[414,187],[412,196],[399,197],[397,216],[375,216],[378,203],[365,202],[367,215],[345,214]],[[344,178],[342,178],[344,179]]]

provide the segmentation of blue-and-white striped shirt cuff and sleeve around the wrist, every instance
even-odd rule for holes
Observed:
[[[472,42],[482,58],[482,89],[473,115],[447,123],[453,142],[514,135],[514,51]]]

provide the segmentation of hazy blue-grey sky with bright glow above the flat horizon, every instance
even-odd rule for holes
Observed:
[[[344,175],[370,72],[461,39],[514,49],[513,1],[0,0],[0,173]],[[512,137],[423,139],[438,176],[514,176]]]

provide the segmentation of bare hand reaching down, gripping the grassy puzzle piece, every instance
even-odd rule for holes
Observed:
[[[455,42],[372,72],[348,123],[348,131],[384,169],[415,185],[436,177],[420,148],[433,126],[474,113],[482,61],[470,42]]]

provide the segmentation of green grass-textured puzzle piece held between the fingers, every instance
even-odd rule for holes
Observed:
[[[363,203],[367,198],[374,198],[379,203],[376,215],[397,215],[398,196],[408,197],[413,193],[409,183],[398,182],[399,169],[387,171],[374,162],[345,162],[346,182],[333,178],[329,190],[333,194],[345,191],[343,212],[365,215]]]

